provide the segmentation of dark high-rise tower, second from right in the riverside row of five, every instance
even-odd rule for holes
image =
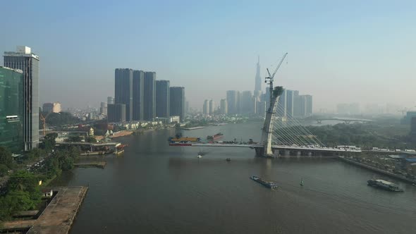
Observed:
[[[170,90],[169,80],[156,80],[156,116],[159,118],[169,118],[170,116]]]

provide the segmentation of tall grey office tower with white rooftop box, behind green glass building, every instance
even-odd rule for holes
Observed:
[[[25,151],[39,144],[39,56],[29,47],[4,52],[4,66],[23,70],[23,142]]]

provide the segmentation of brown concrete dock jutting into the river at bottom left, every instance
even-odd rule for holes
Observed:
[[[56,192],[54,198],[37,219],[6,221],[3,231],[27,230],[35,233],[69,233],[75,216],[87,194],[88,187],[50,187]]]

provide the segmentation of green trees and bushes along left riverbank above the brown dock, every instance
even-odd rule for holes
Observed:
[[[0,197],[0,221],[12,218],[17,211],[37,209],[42,197],[39,181],[49,183],[51,179],[61,174],[61,171],[73,168],[73,163],[78,159],[80,150],[70,147],[69,149],[57,149],[53,152],[55,138],[56,133],[48,134],[42,144],[43,149],[32,149],[24,156],[25,162],[37,161],[37,159],[46,156],[42,167],[33,171],[15,171],[10,175],[6,188]],[[0,176],[5,176],[11,168],[19,168],[19,164],[13,162],[8,149],[0,147]]]

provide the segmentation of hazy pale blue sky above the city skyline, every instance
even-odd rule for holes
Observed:
[[[338,102],[416,105],[416,1],[1,1],[0,51],[40,56],[40,101],[99,106],[114,68],[184,86],[191,107],[276,85]],[[202,3],[204,2],[204,3]],[[3,58],[1,57],[1,65]]]

